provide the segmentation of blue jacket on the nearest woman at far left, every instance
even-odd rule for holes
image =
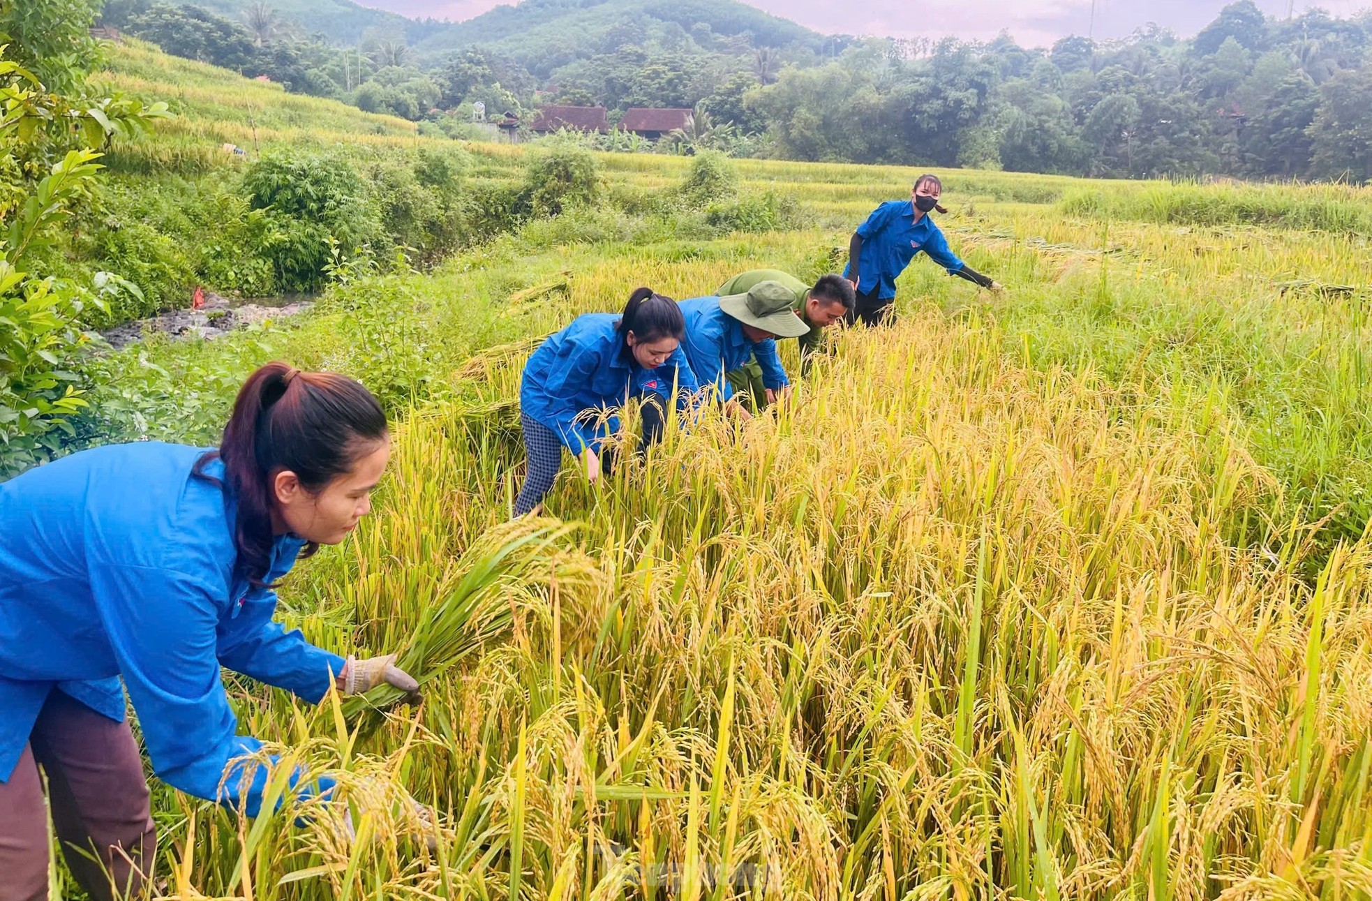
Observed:
[[[225,492],[191,476],[203,453],[97,447],[0,484],[0,782],[48,693],[122,720],[122,677],[162,780],[258,812],[262,767],[225,780],[262,743],[237,734],[220,668],[317,702],[343,658],[273,623],[276,594],[235,576]],[[268,583],[302,546],[276,542]]]

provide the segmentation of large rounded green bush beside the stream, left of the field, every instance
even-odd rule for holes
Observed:
[[[338,155],[269,154],[243,173],[243,189],[254,210],[268,211],[263,251],[284,291],[318,288],[329,237],[351,252],[381,235],[366,185]]]

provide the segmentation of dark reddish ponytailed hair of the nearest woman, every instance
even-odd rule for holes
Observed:
[[[235,570],[263,587],[272,561],[272,479],[294,472],[306,491],[347,473],[362,451],[384,439],[386,413],[372,392],[347,376],[268,363],[248,376],[233,402],[220,450],[195,462],[193,474],[224,487],[237,505]],[[204,473],[224,461],[225,481]],[[305,554],[318,549],[310,543]]]

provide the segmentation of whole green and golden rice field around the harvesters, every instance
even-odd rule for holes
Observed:
[[[687,166],[598,159],[612,193]],[[273,358],[410,399],[375,513],[281,605],[401,650],[423,702],[229,677],[246,731],[340,773],[358,841],[339,805],[248,820],[154,782],[165,894],[1372,897],[1372,192],[940,173],[1007,293],[916,261],[897,324],[836,332],[774,414],[707,413],[601,487],[567,466],[508,522],[541,336],[638,285],[841,266],[918,174],[737,169],[796,228],[606,206],[111,362],[191,421]]]

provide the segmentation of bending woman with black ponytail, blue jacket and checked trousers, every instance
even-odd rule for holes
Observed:
[[[616,410],[630,398],[642,405],[643,446],[664,428],[660,406],[675,398],[685,407],[698,391],[681,343],[686,322],[671,298],[637,289],[623,315],[587,313],[549,337],[524,366],[520,424],[528,474],[514,499],[514,516],[535,510],[553,487],[563,448],[582,458],[586,476],[600,479],[605,440],[619,432]]]

